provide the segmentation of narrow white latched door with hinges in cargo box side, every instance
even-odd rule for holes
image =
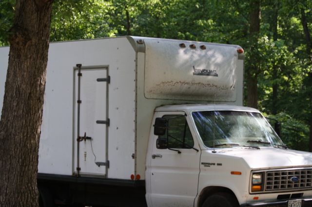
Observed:
[[[74,174],[106,174],[107,77],[106,68],[75,68]]]

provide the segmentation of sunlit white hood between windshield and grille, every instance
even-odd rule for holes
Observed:
[[[279,148],[231,149],[221,150],[218,153],[240,157],[245,160],[251,169],[273,169],[312,167],[312,153]]]

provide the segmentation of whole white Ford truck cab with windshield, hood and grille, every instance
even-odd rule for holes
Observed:
[[[157,107],[146,167],[152,207],[312,205],[311,153],[288,149],[254,108]]]

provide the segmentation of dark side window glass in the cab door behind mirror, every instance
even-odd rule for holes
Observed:
[[[168,138],[167,148],[190,149],[194,147],[194,140],[185,116],[165,115],[163,118],[168,121],[168,130],[159,138]]]

